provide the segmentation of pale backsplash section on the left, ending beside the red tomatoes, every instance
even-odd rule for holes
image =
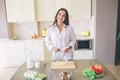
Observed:
[[[11,39],[29,39],[30,35],[38,34],[37,22],[8,23]]]

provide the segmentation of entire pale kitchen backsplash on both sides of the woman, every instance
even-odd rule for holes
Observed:
[[[43,22],[26,22],[26,23],[9,23],[9,36],[10,38],[28,39],[31,34],[37,34],[39,37],[42,36],[42,29],[48,28],[52,24],[52,21]],[[94,20],[80,20],[70,21],[70,25],[73,27],[77,39],[94,39]],[[82,31],[90,31],[89,37],[81,37]]]

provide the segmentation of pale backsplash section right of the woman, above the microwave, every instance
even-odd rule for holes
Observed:
[[[93,20],[71,21],[70,23],[71,23],[70,25],[73,27],[75,31],[77,39],[94,39],[95,27]],[[81,33],[83,31],[89,31],[90,36],[82,37]]]

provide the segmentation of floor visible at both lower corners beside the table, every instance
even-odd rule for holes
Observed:
[[[120,80],[120,66],[107,65],[106,66],[116,77]],[[10,80],[11,76],[18,68],[0,68],[0,80]]]

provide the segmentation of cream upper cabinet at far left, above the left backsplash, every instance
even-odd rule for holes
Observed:
[[[7,22],[35,21],[34,0],[6,0]]]

